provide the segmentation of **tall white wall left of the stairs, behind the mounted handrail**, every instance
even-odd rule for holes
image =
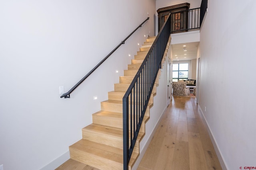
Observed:
[[[1,2],[0,164],[6,170],[54,169],[68,159],[68,146],[82,138],[137,43],[154,33],[155,11],[155,0]],[[70,99],[60,98],[59,86],[67,92],[148,13],[150,20]]]

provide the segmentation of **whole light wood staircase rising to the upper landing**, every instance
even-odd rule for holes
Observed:
[[[114,91],[108,92],[108,100],[101,102],[101,111],[92,115],[93,123],[82,129],[82,139],[69,147],[71,159],[102,170],[123,169],[122,98],[155,38],[146,39],[140,51],[128,65],[128,70],[124,70],[124,76],[120,76],[119,83],[114,84]],[[159,74],[160,71],[158,77]],[[153,96],[156,95],[158,82],[157,78],[129,162],[129,169],[140,154],[139,143],[145,133],[145,123],[149,119],[149,110],[153,106]]]

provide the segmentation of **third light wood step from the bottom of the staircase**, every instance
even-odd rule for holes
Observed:
[[[142,132],[144,131],[144,127],[146,121],[149,119],[149,110],[146,110],[146,113],[143,118],[143,123],[141,126]],[[98,111],[92,114],[92,122],[94,124],[105,125],[116,128],[123,128],[123,115],[122,113],[110,112],[110,111]]]

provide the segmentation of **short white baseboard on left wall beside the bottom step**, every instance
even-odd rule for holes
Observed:
[[[53,160],[52,162],[50,162],[49,164],[47,164],[46,166],[44,166],[43,168],[41,168],[40,170],[55,170],[68,159],[70,159],[69,150],[62,154],[61,156],[59,156],[58,158],[56,158],[55,160]]]

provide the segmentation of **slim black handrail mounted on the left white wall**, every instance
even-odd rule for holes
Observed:
[[[102,61],[100,61],[100,63],[98,63],[92,70],[90,70],[90,72],[88,74],[86,74],[86,76],[84,76],[78,83],[76,83],[76,85],[74,85],[74,87],[72,87],[68,92],[62,94],[62,96],[60,96],[60,98],[70,98],[70,94],[76,90],[76,88],[82,83],[84,82],[84,80],[90,76],[92,74],[92,72],[94,72],[94,70],[96,70],[106,59],[108,59],[108,57],[110,55],[112,55],[112,53],[114,53],[114,51],[116,51],[116,49],[118,49],[118,47],[120,47],[122,44],[124,44],[124,42],[139,28],[142,27],[142,24],[145,23],[147,20],[149,20],[149,17],[144,20],[136,29],[134,29],[134,31],[132,31],[132,33],[130,33],[130,35],[128,35],[118,46],[116,46],[116,48],[114,48]]]

